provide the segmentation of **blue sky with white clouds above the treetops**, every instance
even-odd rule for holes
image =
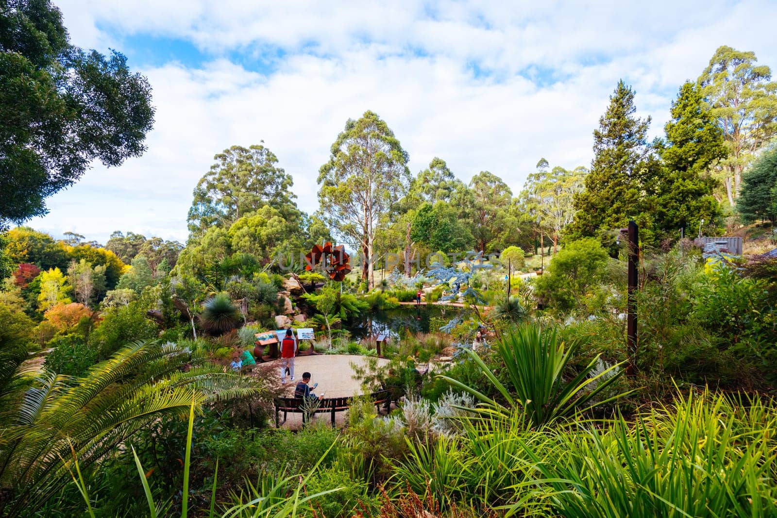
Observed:
[[[103,243],[117,230],[185,242],[192,191],[232,145],[263,141],[312,213],[329,148],[366,110],[388,123],[414,174],[437,156],[460,179],[490,171],[517,194],[540,158],[591,164],[620,78],[654,137],[720,45],[777,68],[773,0],[54,4],[71,43],[120,51],[153,89],[148,151],[94,163],[27,223]]]

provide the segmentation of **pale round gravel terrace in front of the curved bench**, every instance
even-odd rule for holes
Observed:
[[[307,371],[312,374],[311,384],[318,383],[318,388],[313,391],[321,395],[326,392],[325,398],[343,398],[347,396],[360,395],[361,385],[354,380],[354,370],[350,367],[351,363],[366,366],[368,356],[356,356],[350,354],[314,354],[311,356],[297,356],[294,358],[294,381],[287,376],[286,384],[280,384],[280,362],[273,360],[267,363],[260,363],[257,366],[261,370],[270,370],[271,381],[274,381],[274,387],[277,387],[278,393],[287,398],[294,395],[294,387],[302,379],[302,373]],[[379,365],[385,365],[389,360],[378,358]],[[343,418],[346,412],[337,412],[335,424],[340,427],[343,425]],[[280,416],[283,419],[283,415]],[[329,423],[329,414],[316,415],[315,421],[324,421]],[[273,416],[274,422],[274,416]],[[281,428],[300,429],[302,426],[301,414],[289,414],[287,421],[281,425]]]

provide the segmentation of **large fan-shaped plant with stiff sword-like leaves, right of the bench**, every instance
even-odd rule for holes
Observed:
[[[577,346],[566,349],[556,339],[556,330],[543,330],[538,324],[521,325],[505,333],[497,342],[497,349],[504,362],[510,388],[505,387],[491,372],[477,353],[465,349],[476,365],[497,388],[507,406],[470,388],[461,381],[441,376],[448,383],[469,391],[489,408],[505,414],[510,407],[520,405],[532,426],[539,427],[559,418],[570,417],[598,405],[614,401],[625,393],[598,399],[603,391],[613,384],[622,371],[621,364],[613,365],[601,373],[592,375],[597,367],[599,355],[594,357],[570,381],[564,380],[567,366]]]

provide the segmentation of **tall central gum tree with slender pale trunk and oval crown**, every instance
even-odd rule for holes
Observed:
[[[375,235],[383,214],[407,192],[408,155],[378,114],[349,119],[319,169],[321,214],[336,233],[364,256],[361,277],[375,287]]]

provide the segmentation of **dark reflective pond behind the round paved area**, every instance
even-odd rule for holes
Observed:
[[[462,311],[465,309],[440,305],[400,306],[387,311],[370,311],[363,315],[361,320],[354,319],[354,322],[350,322],[347,329],[356,340],[369,335],[390,335],[396,338],[405,329],[409,332],[437,331],[429,328],[431,318],[444,318],[447,322],[460,315]]]

